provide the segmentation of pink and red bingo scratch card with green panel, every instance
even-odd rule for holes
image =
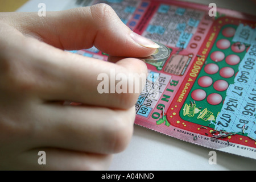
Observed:
[[[166,61],[147,63],[154,77],[135,104],[135,124],[256,159],[254,16],[217,9],[210,17],[208,6],[179,1],[84,2],[108,3],[131,30],[171,51]],[[73,52],[108,57],[94,47]]]

